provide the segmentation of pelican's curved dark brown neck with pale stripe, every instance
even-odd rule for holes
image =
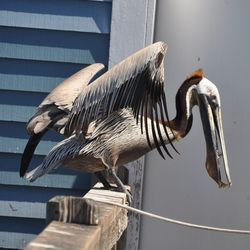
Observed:
[[[200,75],[192,75],[181,85],[176,94],[176,117],[170,121],[170,126],[177,138],[183,138],[191,129],[192,108],[197,104],[194,89],[201,79]]]

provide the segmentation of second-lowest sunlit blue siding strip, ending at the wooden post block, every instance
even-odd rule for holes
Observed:
[[[46,204],[25,201],[0,201],[0,216],[46,218]]]

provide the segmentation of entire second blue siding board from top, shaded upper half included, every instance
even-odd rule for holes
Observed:
[[[16,54],[16,58],[30,60],[107,63],[108,47],[109,35],[0,28],[0,56],[7,58],[15,58]],[[19,48],[22,53],[16,51]]]

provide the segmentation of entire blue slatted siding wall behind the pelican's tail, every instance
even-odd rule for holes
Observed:
[[[35,183],[19,178],[35,107],[63,79],[94,62],[108,64],[110,0],[0,1],[0,249],[21,249],[45,225],[55,195],[83,195],[88,174],[62,168]],[[36,150],[38,165],[61,137]]]

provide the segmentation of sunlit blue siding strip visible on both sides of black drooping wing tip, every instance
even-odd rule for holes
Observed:
[[[0,152],[22,154],[26,143],[27,139],[0,136]],[[35,154],[46,155],[55,144],[56,142],[52,141],[41,141]]]

